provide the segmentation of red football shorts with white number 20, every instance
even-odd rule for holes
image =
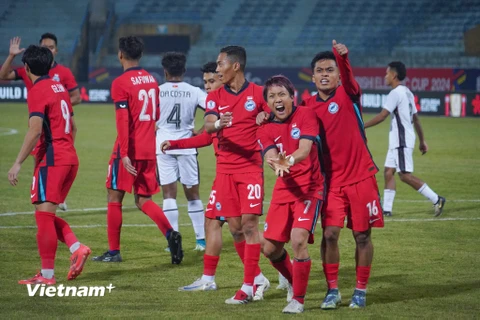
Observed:
[[[263,214],[263,173],[217,173],[209,205],[215,206],[216,219]]]

